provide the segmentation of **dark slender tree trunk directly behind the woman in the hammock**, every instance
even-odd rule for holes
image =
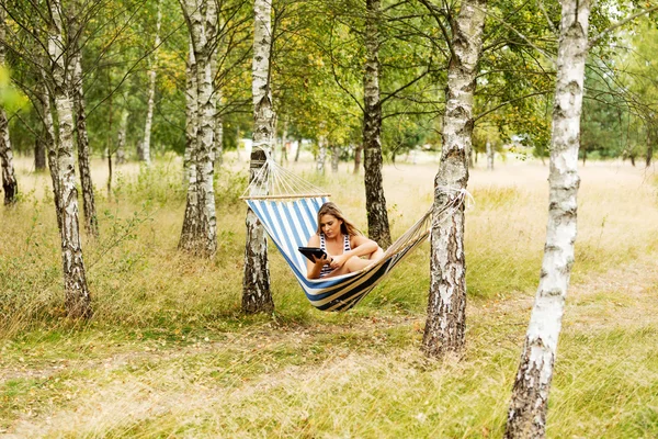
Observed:
[[[382,103],[379,100],[379,0],[366,0],[365,71],[363,75],[363,148],[367,234],[382,248],[390,246],[390,229],[382,179]]]

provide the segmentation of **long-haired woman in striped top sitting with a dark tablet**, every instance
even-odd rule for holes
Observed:
[[[384,250],[347,219],[336,204],[322,204],[318,229],[308,247],[319,247],[327,257],[306,262],[308,279],[330,278],[359,271],[382,259]],[[363,257],[363,259],[362,259]]]

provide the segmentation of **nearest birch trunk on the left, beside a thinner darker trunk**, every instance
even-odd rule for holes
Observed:
[[[59,124],[59,138],[56,153],[57,180],[61,212],[61,259],[64,267],[65,306],[70,317],[90,317],[91,295],[87,285],[80,225],[78,222],[78,189],[73,162],[73,100],[69,76],[66,71],[64,45],[64,16],[59,0],[50,1],[50,30],[48,54],[53,63],[53,85],[55,110]]]

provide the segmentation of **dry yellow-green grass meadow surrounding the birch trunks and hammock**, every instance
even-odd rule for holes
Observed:
[[[101,238],[84,240],[94,316],[64,316],[47,175],[18,160],[21,200],[0,210],[0,437],[498,438],[538,282],[547,166],[479,164],[467,211],[467,346],[420,352],[424,244],[358,307],[321,313],[275,248],[275,312],[240,312],[247,165],[217,172],[219,248],[177,250],[180,160],[94,161]],[[365,226],[362,177],[293,170]],[[387,165],[394,237],[430,206],[436,164]],[[551,393],[552,438],[658,437],[658,179],[581,167],[576,264]]]

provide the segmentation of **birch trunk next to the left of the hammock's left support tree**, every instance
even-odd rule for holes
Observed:
[[[189,187],[179,248],[209,257],[217,250],[217,217],[213,185],[215,100],[212,53],[217,33],[215,1],[185,0],[181,3],[194,53],[196,106],[193,117],[194,147],[190,151]],[[188,83],[194,83],[189,81]]]

